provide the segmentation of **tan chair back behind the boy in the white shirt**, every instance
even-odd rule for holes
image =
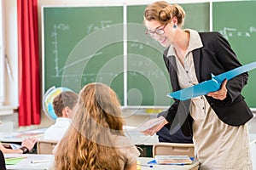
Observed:
[[[52,150],[57,143],[57,140],[39,139],[37,144],[38,154],[53,154]]]

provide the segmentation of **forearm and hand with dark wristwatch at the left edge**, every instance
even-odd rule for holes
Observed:
[[[2,144],[0,142],[0,150],[4,154],[26,154],[30,150],[33,149],[34,145],[37,143],[38,139],[24,139],[21,143],[21,147],[18,149],[13,150],[12,148],[9,148],[8,146],[5,146],[5,144]]]

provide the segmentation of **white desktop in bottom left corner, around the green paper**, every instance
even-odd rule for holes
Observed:
[[[51,162],[53,162],[53,155],[37,155],[37,154],[4,154],[5,157],[8,156],[26,156],[27,158],[23,159],[16,165],[6,165],[7,169],[12,170],[48,170]],[[44,160],[45,162],[41,163],[32,163],[35,160]]]

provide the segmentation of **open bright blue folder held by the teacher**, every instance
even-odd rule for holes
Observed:
[[[201,95],[206,95],[210,92],[218,91],[218,89],[221,88],[221,83],[224,81],[224,79],[230,80],[231,78],[234,78],[240,75],[241,73],[251,71],[255,68],[256,61],[253,63],[249,63],[247,65],[242,65],[231,71],[224,72],[222,74],[219,74],[218,76],[212,75],[211,80],[198,83],[195,86],[191,86],[189,88],[183,88],[182,90],[178,90],[171,94],[167,94],[167,96],[175,99],[186,100]]]

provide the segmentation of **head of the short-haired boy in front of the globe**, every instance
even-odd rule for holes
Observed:
[[[71,118],[73,116],[73,107],[77,104],[78,99],[78,94],[71,91],[61,92],[61,94],[55,96],[52,105],[56,116]]]

